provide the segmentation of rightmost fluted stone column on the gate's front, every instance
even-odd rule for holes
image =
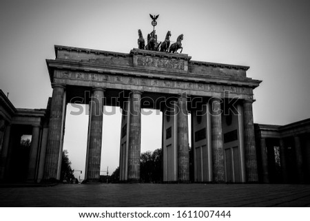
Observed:
[[[252,103],[253,101],[249,100],[245,100],[243,102],[243,125],[245,129],[245,168],[247,171],[247,182],[258,182]]]

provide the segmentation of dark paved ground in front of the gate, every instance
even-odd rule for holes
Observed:
[[[0,207],[309,206],[310,185],[92,184],[0,188]]]

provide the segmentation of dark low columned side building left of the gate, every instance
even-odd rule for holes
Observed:
[[[47,109],[15,108],[0,90],[0,182],[41,181],[48,120]]]

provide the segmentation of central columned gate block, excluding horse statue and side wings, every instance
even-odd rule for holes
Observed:
[[[192,61],[187,54],[129,54],[55,45],[43,180],[59,180],[67,103],[90,105],[85,179],[99,180],[103,105],[122,109],[120,180],[140,179],[141,108],[163,112],[163,181],[258,182],[249,67]],[[87,95],[87,96],[85,96]],[[189,144],[188,114],[192,117]],[[109,133],[109,131],[106,131]]]

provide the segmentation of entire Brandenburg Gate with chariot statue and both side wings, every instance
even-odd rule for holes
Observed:
[[[121,182],[140,181],[143,108],[163,113],[163,182],[309,182],[310,119],[254,131],[253,91],[261,81],[247,77],[249,67],[193,61],[182,54],[183,34],[171,45],[170,31],[157,41],[158,15],[150,17],[147,44],[138,30],[129,54],[55,45],[56,59],[46,60],[53,89],[46,109],[15,108],[0,90],[0,182],[61,179],[68,103],[90,109],[87,182],[100,178],[104,106],[122,112]],[[24,135],[31,135],[28,147]]]

